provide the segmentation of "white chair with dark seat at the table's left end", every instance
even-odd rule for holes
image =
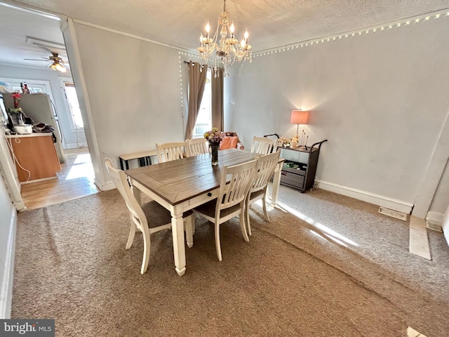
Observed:
[[[128,242],[126,242],[126,249],[130,249],[133,245],[136,228],[142,232],[143,235],[143,258],[140,273],[145,274],[148,268],[149,253],[151,250],[151,234],[161,230],[168,230],[171,228],[170,211],[158,204],[156,201],[149,201],[140,205],[133,194],[133,187],[130,187],[126,173],[122,170],[117,170],[112,165],[109,158],[105,158],[105,165],[109,175],[114,181],[114,185],[119,190],[121,196],[125,200],[126,206],[130,213],[130,231],[128,234]],[[193,246],[193,232],[194,226],[193,212],[189,211],[182,215],[183,218],[189,217],[186,221],[187,246]]]

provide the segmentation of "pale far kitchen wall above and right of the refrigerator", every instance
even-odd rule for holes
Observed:
[[[83,131],[72,131],[72,127],[69,122],[70,115],[66,109],[64,92],[62,91],[61,83],[58,77],[59,74],[60,73],[50,69],[40,70],[32,67],[12,67],[0,65],[0,79],[6,77],[23,79],[24,81],[27,79],[34,79],[50,82],[53,98],[55,99],[55,102],[53,103],[55,103],[56,111],[60,117],[60,125],[64,136],[62,145],[67,148],[72,148],[76,147],[78,144],[86,144],[86,136]]]

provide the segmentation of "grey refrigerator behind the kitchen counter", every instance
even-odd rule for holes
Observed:
[[[53,102],[50,96],[46,93],[22,93],[20,98],[19,107],[22,108],[24,114],[27,117],[31,117],[34,124],[45,123],[47,125],[53,126],[55,129],[56,137],[56,153],[58,153],[58,158],[60,163],[65,162],[64,150],[62,149],[62,138],[61,129],[59,125],[58,114],[56,113]],[[14,100],[11,94],[3,94],[4,104],[6,108],[14,107]]]

